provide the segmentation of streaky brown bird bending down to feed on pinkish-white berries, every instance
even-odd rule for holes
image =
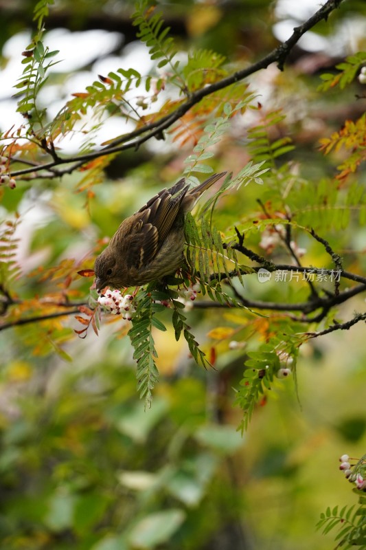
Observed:
[[[192,189],[183,177],[122,221],[95,260],[98,292],[107,286],[121,289],[144,285],[174,274],[183,261],[185,214],[225,174],[214,174]]]

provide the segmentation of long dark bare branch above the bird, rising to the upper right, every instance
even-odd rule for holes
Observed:
[[[326,21],[332,11],[334,11],[336,8],[339,8],[339,5],[342,1],[343,0],[328,0],[319,10],[317,10],[317,12],[312,15],[312,17],[310,17],[310,19],[305,21],[305,23],[303,23],[302,25],[299,25],[299,27],[295,27],[293,30],[293,34],[291,34],[288,40],[281,43],[275,48],[275,50],[266,55],[260,61],[258,61],[257,63],[253,63],[253,65],[251,65],[250,67],[237,71],[230,76],[222,78],[222,80],[219,80],[214,84],[207,85],[202,89],[195,91],[189,98],[187,98],[185,102],[179,105],[179,107],[177,107],[169,115],[165,115],[163,118],[156,120],[155,122],[150,122],[150,124],[146,124],[145,126],[136,129],[135,131],[119,137],[117,140],[115,140],[111,144],[108,144],[108,146],[102,148],[99,151],[92,151],[91,153],[86,153],[84,155],[75,155],[73,157],[58,157],[57,159],[53,159],[51,162],[47,162],[45,164],[38,164],[38,166],[23,168],[23,170],[14,170],[12,172],[12,177],[19,177],[29,173],[36,174],[41,170],[52,170],[55,175],[62,175],[62,172],[58,173],[58,170],[54,170],[55,166],[59,166],[61,164],[75,163],[74,166],[68,168],[67,171],[69,173],[72,170],[75,170],[76,168],[82,166],[82,164],[89,162],[91,159],[102,157],[103,155],[107,154],[110,155],[111,153],[120,153],[130,148],[138,148],[141,144],[147,142],[152,137],[161,136],[164,130],[172,126],[172,124],[174,124],[176,120],[179,120],[179,118],[185,115],[187,111],[190,111],[190,109],[192,109],[194,105],[198,104],[206,96],[209,96],[211,94],[214,94],[214,92],[216,91],[236,84],[240,80],[244,80],[244,78],[247,78],[247,76],[250,76],[251,74],[260,71],[260,69],[266,69],[268,65],[271,65],[271,63],[277,63],[279,69],[283,70],[286,58],[288,57],[296,43],[299,41],[301,36],[308,32],[308,30],[312,29],[314,25],[319,23],[319,21],[322,21],[323,19]]]

